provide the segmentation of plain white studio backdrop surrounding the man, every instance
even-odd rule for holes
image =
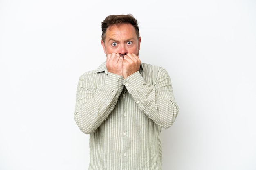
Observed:
[[[76,85],[105,60],[100,23],[128,13],[180,106],[163,170],[256,170],[254,0],[0,0],[0,170],[88,168]]]

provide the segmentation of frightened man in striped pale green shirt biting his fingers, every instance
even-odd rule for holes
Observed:
[[[178,106],[164,68],[141,63],[132,15],[101,23],[106,62],[79,78],[74,118],[90,134],[89,170],[161,170],[161,127]]]

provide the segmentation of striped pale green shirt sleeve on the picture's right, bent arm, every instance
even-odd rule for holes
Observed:
[[[154,83],[146,83],[139,72],[126,79],[124,85],[138,107],[156,124],[169,128],[174,123],[179,107],[173,96],[171,79],[164,68],[160,68]]]

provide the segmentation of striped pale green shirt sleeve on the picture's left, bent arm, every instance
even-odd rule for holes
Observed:
[[[91,74],[80,76],[74,119],[83,133],[94,132],[108,118],[123,90],[123,80],[122,76],[108,73],[106,82],[97,87]]]

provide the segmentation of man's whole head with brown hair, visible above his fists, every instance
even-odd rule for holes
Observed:
[[[101,23],[101,45],[105,54],[139,54],[141,37],[137,20],[131,15],[109,15]]]

